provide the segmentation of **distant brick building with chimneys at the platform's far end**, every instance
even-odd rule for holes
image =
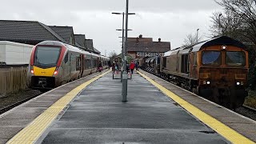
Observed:
[[[170,50],[170,42],[153,42],[153,38],[143,38],[140,34],[137,38],[128,38],[127,53],[134,59],[163,55]]]

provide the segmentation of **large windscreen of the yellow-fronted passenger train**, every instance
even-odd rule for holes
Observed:
[[[55,66],[58,62],[61,47],[38,46],[34,54],[34,65]]]

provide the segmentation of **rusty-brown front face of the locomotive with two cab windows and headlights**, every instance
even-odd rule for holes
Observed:
[[[210,46],[200,53],[198,94],[230,108],[242,106],[247,95],[246,50],[237,46]],[[224,104],[227,101],[230,103]]]

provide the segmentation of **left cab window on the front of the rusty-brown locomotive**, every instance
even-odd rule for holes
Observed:
[[[202,64],[203,65],[221,65],[220,51],[202,51]]]

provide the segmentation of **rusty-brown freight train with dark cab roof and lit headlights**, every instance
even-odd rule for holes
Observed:
[[[166,52],[163,57],[141,58],[152,74],[230,109],[242,106],[247,96],[246,46],[222,36]]]

